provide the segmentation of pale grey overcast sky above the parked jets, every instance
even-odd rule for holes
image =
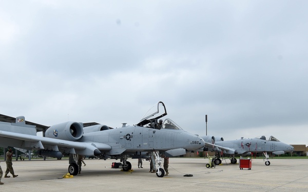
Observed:
[[[307,1],[0,1],[0,114],[308,144]]]

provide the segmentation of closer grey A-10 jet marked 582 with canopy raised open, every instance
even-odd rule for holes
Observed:
[[[83,127],[83,123],[65,122],[50,126],[45,137],[36,136],[36,127],[25,124],[25,117],[20,116],[15,123],[0,122],[0,146],[37,150],[41,156],[58,159],[69,154],[120,159],[126,172],[131,169],[129,157],[141,158],[147,152],[156,152],[156,175],[164,177],[158,152],[179,156],[205,144],[201,137],[182,130],[171,119],[160,125],[158,119],[165,115],[165,105],[160,101],[136,125],[123,123],[118,129],[110,129],[102,124]],[[78,165],[71,160],[69,163],[68,172],[77,175]]]

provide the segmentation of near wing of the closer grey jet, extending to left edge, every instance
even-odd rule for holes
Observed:
[[[101,151],[110,151],[111,146],[104,143],[76,142],[34,135],[0,131],[0,144],[16,146],[27,150],[62,151],[85,156],[98,156]]]

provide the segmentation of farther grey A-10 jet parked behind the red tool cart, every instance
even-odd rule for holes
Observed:
[[[252,153],[263,153],[266,161],[265,165],[271,164],[268,161],[267,152],[271,152],[274,155],[281,155],[284,153],[290,153],[294,151],[292,145],[288,145],[276,139],[273,136],[260,136],[252,139],[239,139],[224,141],[222,137],[215,136],[202,136],[205,141],[205,147],[203,151],[219,152],[223,154],[231,155],[231,163],[236,164],[237,160],[234,158],[236,154],[248,155]],[[221,163],[221,159],[215,160],[216,164]]]

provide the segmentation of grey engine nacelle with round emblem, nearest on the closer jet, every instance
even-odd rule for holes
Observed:
[[[45,137],[76,141],[83,135],[83,124],[78,122],[65,122],[52,125],[45,133]]]

